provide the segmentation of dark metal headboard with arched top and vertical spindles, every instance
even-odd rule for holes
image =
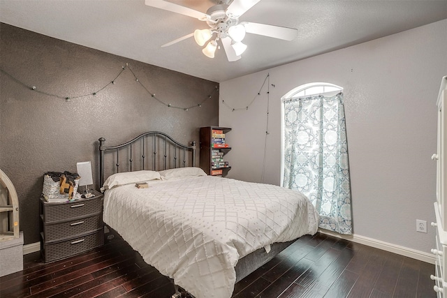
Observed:
[[[138,143],[137,143],[138,142]],[[147,153],[152,146],[152,161]],[[159,131],[149,131],[142,133],[129,142],[119,144],[117,146],[105,146],[105,138],[99,138],[99,183],[100,187],[104,184],[105,161],[104,157],[106,151],[111,151],[114,158],[112,174],[119,172],[120,161],[119,154],[126,156],[124,172],[131,172],[133,170],[168,170],[175,167],[196,166],[196,142],[191,142],[191,146],[181,144],[174,140],[166,133]],[[157,151],[163,152],[163,156],[157,155]],[[139,154],[139,155],[138,155]],[[183,159],[182,159],[183,157]],[[139,158],[139,161],[134,161],[134,158]],[[150,166],[152,165],[152,167]]]

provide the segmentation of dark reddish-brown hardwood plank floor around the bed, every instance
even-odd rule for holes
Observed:
[[[434,265],[317,233],[301,237],[235,285],[242,297],[436,297]],[[168,298],[170,279],[143,262],[119,237],[73,258],[43,263],[24,256],[24,270],[0,278],[0,297]]]

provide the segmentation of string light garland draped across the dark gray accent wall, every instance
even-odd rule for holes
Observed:
[[[144,84],[142,84],[142,82],[140,82],[140,80],[138,79],[137,75],[135,75],[135,73],[133,72],[133,70],[131,69],[131,67],[129,66],[128,63],[126,63],[126,66],[122,66],[122,69],[119,71],[118,75],[111,80],[110,82],[108,82],[107,84],[105,84],[105,86],[101,87],[100,89],[94,91],[94,92],[89,92],[87,94],[82,94],[79,96],[61,96],[59,94],[51,94],[48,93],[46,91],[42,91],[41,89],[38,89],[36,86],[34,85],[28,85],[20,80],[18,80],[16,77],[14,77],[13,75],[10,75],[10,73],[6,72],[6,70],[3,70],[3,68],[0,68],[1,73],[4,73],[5,75],[7,75],[8,77],[10,77],[11,80],[13,80],[14,82],[16,82],[17,84],[22,85],[23,87],[26,87],[27,89],[30,89],[31,91],[37,92],[39,94],[44,94],[46,96],[52,96],[55,98],[60,98],[60,99],[64,99],[67,102],[72,100],[72,99],[77,99],[77,98],[82,98],[82,97],[86,97],[86,96],[97,96],[99,92],[103,91],[105,88],[109,87],[110,84],[116,84],[117,83],[117,79],[120,75],[122,75],[122,73],[124,72],[124,70],[129,69],[129,71],[132,73],[133,77],[135,77],[135,82],[138,82],[138,84],[141,85],[141,87],[143,89],[145,89],[145,91],[147,92],[147,94],[149,94],[152,98],[154,98],[155,100],[157,100],[159,103],[166,105],[166,107],[173,107],[175,109],[179,109],[179,110],[184,110],[184,111],[188,111],[194,107],[202,107],[203,103],[205,103],[207,100],[209,100],[210,98],[212,98],[212,95],[216,92],[219,91],[219,89],[216,87],[214,87],[213,91],[211,92],[210,95],[208,95],[205,99],[203,99],[200,103],[197,103],[196,105],[191,105],[189,107],[177,107],[175,105],[171,105],[170,103],[165,103],[163,100],[160,100],[159,98],[157,98],[155,96],[154,93],[152,93],[151,91],[149,91],[149,89],[147,89],[147,87],[145,87]]]

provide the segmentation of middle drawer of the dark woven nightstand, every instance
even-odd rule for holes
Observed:
[[[80,218],[74,221],[64,223],[53,223],[43,225],[45,241],[53,241],[61,238],[74,237],[78,234],[96,231],[103,228],[103,214]]]

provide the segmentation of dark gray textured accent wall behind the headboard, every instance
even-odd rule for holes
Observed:
[[[219,91],[213,90],[219,84],[0,23],[0,67],[50,94],[97,91],[126,63],[165,103],[191,107],[207,100],[188,111],[167,107],[124,70],[116,84],[96,96],[66,102],[38,94],[0,72],[0,168],[17,189],[24,244],[40,241],[38,201],[44,172],[75,172],[76,162],[91,161],[97,184],[99,137],[115,145],[146,131],[162,131],[183,144],[198,144],[200,126],[218,125]]]

